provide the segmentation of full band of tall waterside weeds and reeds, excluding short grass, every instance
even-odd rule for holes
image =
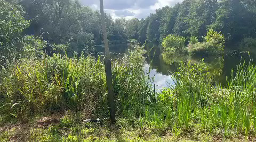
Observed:
[[[118,118],[139,119],[163,135],[180,129],[225,135],[255,132],[256,68],[239,64],[223,86],[214,82],[205,63],[181,63],[173,73],[175,85],[156,94],[143,70],[145,50],[135,47],[113,61],[113,85]],[[234,74],[234,75],[233,75]],[[91,56],[68,58],[58,54],[24,58],[0,72],[0,118],[27,119],[35,114],[74,110],[83,118],[108,117],[103,62]],[[131,123],[132,125],[132,123]],[[162,130],[162,131],[161,131]]]

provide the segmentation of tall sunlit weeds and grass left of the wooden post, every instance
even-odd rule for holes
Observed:
[[[103,70],[100,60],[95,61],[91,56],[22,59],[3,68],[1,110],[22,118],[35,112],[66,108],[92,113],[103,100],[99,94],[105,93]]]

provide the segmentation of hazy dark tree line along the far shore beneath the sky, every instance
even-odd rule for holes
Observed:
[[[102,44],[100,13],[78,0],[22,0],[18,3],[29,27],[23,32],[42,37],[48,43],[68,45],[69,51],[82,52]],[[169,34],[197,37],[207,30],[221,31],[228,43],[256,37],[256,3],[253,0],[185,0],[165,6],[146,19],[113,20],[105,13],[110,43],[136,39],[140,43],[162,42]],[[47,50],[51,50],[50,47]]]

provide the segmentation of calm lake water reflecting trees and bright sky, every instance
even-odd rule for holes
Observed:
[[[130,43],[109,45],[110,58],[123,58],[125,54],[129,54],[129,50],[133,50],[133,47],[134,46]],[[234,47],[226,47],[223,56],[186,56],[180,57],[179,59],[171,58],[167,59],[167,62],[171,63],[166,64],[166,59],[164,61],[161,55],[163,51],[162,45],[157,43],[147,43],[145,49],[148,51],[145,62],[145,73],[148,74],[150,66],[153,68],[149,75],[150,77],[154,77],[154,84],[158,91],[163,87],[170,87],[170,84],[174,83],[171,74],[178,69],[180,61],[199,63],[204,59],[206,65],[209,65],[212,72],[215,74],[215,80],[226,86],[226,77],[230,78],[231,69],[234,69],[235,73],[237,64],[241,63],[241,61],[243,63],[244,60],[246,61],[246,64],[248,64],[250,60],[253,60],[253,57],[256,57],[256,54],[253,52],[250,52],[249,56],[247,52],[237,50]],[[97,55],[103,55],[105,49],[103,46],[94,46],[92,51],[97,53]]]

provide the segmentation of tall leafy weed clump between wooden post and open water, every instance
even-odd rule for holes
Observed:
[[[145,106],[155,102],[151,92],[149,77],[145,76],[143,67],[146,51],[135,47],[130,56],[116,62],[113,68],[113,85],[116,95],[117,112],[124,117],[139,117]]]

